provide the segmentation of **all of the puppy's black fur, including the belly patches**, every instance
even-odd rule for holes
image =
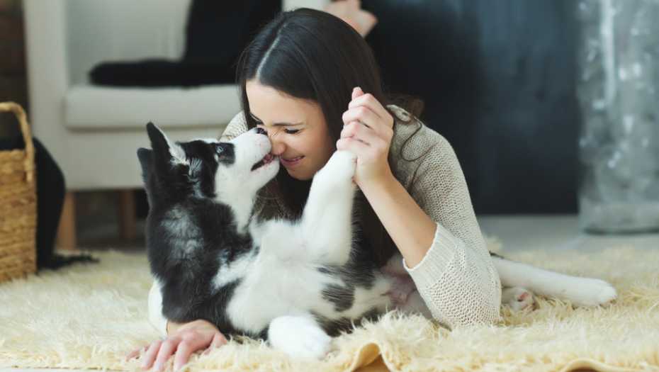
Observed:
[[[213,287],[213,278],[220,267],[237,259],[255,257],[260,249],[249,232],[237,231],[232,209],[213,201],[218,162],[233,164],[234,145],[203,140],[177,142],[184,149],[188,164],[201,160],[202,166],[191,171],[189,165],[176,162],[167,138],[152,123],[147,125],[147,132],[153,150],[141,148],[137,155],[150,203],[148,257],[152,274],[161,283],[162,314],[179,323],[208,320],[227,335],[267,339],[267,327],[258,332],[238,329],[225,312],[242,278],[222,288]],[[222,151],[216,159],[218,147],[222,147]],[[370,289],[376,280],[368,241],[359,233],[354,240],[356,244],[347,264],[318,269],[327,276],[342,278],[347,284],[327,286],[322,291],[327,306],[339,312],[352,308],[356,288]],[[186,244],[194,249],[182,249],[188,247]],[[380,312],[371,309],[358,319],[327,319],[310,309],[310,314],[330,336],[349,331],[359,320],[372,320]]]

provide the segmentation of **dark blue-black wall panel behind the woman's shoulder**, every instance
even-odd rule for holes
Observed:
[[[571,0],[362,0],[395,90],[454,147],[476,213],[575,213]]]

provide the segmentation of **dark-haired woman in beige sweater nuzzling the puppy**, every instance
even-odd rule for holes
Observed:
[[[315,172],[335,150],[351,150],[363,194],[357,213],[378,264],[400,252],[432,316],[448,327],[498,320],[500,281],[455,154],[416,120],[414,104],[390,106],[359,33],[320,11],[281,13],[244,51],[238,82],[244,111],[222,139],[264,128],[283,165],[265,191],[276,203],[261,213],[295,218]],[[191,352],[226,343],[205,320],[167,324],[159,288],[150,314],[169,336],[146,346],[142,368],[155,361],[161,371],[176,351],[176,370]]]

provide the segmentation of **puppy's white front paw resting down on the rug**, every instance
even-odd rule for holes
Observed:
[[[322,359],[332,349],[332,337],[308,317],[278,317],[270,323],[268,334],[272,347],[291,359]]]

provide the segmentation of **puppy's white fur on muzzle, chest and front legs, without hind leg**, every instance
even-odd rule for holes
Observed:
[[[327,285],[344,283],[318,271],[319,265],[342,266],[351,252],[356,166],[352,152],[335,152],[318,171],[298,222],[248,224],[254,201],[245,200],[244,196],[251,194],[245,188],[265,184],[277,170],[269,164],[250,171],[252,164],[270,151],[266,141],[264,135],[237,137],[232,141],[237,149],[235,164],[218,169],[217,177],[223,180],[218,182],[222,185],[219,201],[234,208],[239,231],[248,229],[260,249],[218,271],[215,284],[242,278],[226,309],[237,327],[257,330],[269,325],[268,338],[275,349],[298,358],[318,358],[327,354],[332,338],[310,317],[308,309],[329,319],[356,318],[371,308],[385,311],[391,307],[385,295],[391,281],[381,276],[369,290],[356,288],[354,305],[343,312],[335,311],[322,298]],[[249,151],[242,151],[246,148]]]

